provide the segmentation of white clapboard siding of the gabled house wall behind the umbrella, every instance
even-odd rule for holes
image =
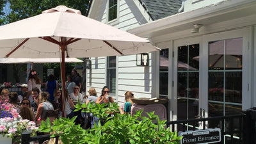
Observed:
[[[128,5],[128,4],[129,5]],[[102,3],[102,6],[106,6],[106,2]],[[134,1],[119,1],[119,16],[118,23],[111,26],[126,31],[127,29],[140,26],[147,22],[138,8],[131,8],[129,6],[136,6]],[[131,11],[133,10],[133,12]],[[99,15],[101,22],[108,24],[106,8],[100,10]],[[140,22],[138,20],[141,20]],[[148,67],[136,65],[136,54],[129,56],[116,57],[118,62],[116,63],[116,95],[111,95],[119,105],[124,104],[124,93],[132,91],[134,96],[139,97],[152,97],[152,67],[151,67],[151,54],[149,54]],[[87,81],[87,88],[96,88],[96,91],[100,95],[101,88],[106,83],[106,58],[92,58],[92,83],[90,85]],[[88,74],[87,77],[90,75]],[[89,79],[88,79],[89,80]]]

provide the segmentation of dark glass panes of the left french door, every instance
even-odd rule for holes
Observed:
[[[199,44],[177,47],[177,120],[198,116]]]

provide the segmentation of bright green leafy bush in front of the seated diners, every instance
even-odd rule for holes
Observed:
[[[42,122],[40,131],[52,132],[52,136],[60,136],[63,143],[179,143],[181,136],[165,128],[166,120],[159,120],[154,112],[148,117],[141,116],[142,111],[136,115],[122,115],[116,113],[118,104],[77,104],[76,110],[83,109],[86,113],[100,118],[101,123],[92,129],[84,130],[74,125],[75,118],[60,118],[51,125],[49,120]],[[106,113],[107,111],[107,113]],[[113,113],[113,116],[109,116]],[[140,119],[140,120],[138,120]],[[157,120],[157,124],[152,121]]]

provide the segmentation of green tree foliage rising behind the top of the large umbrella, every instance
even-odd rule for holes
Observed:
[[[0,18],[0,22],[2,20],[3,23],[0,24],[8,24],[33,17],[58,5],[80,10],[82,15],[85,15],[88,10],[89,0],[0,0],[1,12],[3,12],[3,6],[6,3],[10,4],[11,12],[3,13],[3,17]]]

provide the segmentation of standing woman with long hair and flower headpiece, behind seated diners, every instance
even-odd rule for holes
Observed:
[[[31,92],[33,88],[38,88],[41,92],[41,79],[37,76],[36,70],[31,70],[28,76],[28,91]]]

